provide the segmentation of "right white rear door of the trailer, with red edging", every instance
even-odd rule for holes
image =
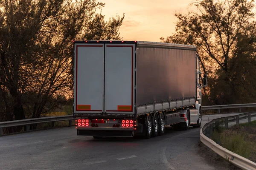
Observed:
[[[134,113],[134,44],[105,44],[105,113]]]

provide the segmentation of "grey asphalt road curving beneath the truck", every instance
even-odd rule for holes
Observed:
[[[231,115],[203,116],[202,126]],[[151,139],[93,139],[76,136],[75,127],[3,136],[0,170],[215,170],[198,153],[199,130],[166,127],[165,135]]]

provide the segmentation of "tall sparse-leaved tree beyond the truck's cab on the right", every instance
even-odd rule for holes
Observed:
[[[252,47],[255,43],[254,2],[198,0],[192,5],[197,10],[175,14],[178,18],[175,34],[166,39],[161,37],[160,40],[196,45],[203,69],[209,75],[209,90],[205,91],[209,101],[216,104],[237,102],[240,93],[237,91],[241,90],[242,80],[236,79],[235,85],[234,72],[241,71],[237,68],[246,65],[246,62],[241,65],[237,61],[248,61],[245,58],[247,52],[254,56],[252,50],[240,51],[245,44]],[[237,85],[239,88],[235,88]],[[233,91],[236,91],[236,95]]]

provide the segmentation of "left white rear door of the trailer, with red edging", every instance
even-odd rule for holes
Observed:
[[[76,113],[102,113],[104,107],[104,44],[75,45]]]

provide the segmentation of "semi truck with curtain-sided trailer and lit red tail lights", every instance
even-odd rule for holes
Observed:
[[[151,138],[167,125],[201,126],[207,75],[196,46],[74,40],[73,47],[77,135]]]

